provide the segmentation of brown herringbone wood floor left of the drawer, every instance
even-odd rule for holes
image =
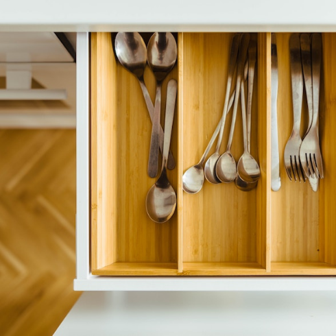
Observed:
[[[0,335],[53,335],[75,277],[75,131],[0,130]]]

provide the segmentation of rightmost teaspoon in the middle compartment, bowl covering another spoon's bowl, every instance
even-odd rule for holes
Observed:
[[[252,62],[255,63],[256,60],[256,45],[250,45],[249,53],[252,58]],[[250,59],[249,58],[249,59]],[[252,63],[251,62],[251,63]],[[249,62],[250,64],[250,62]],[[249,65],[250,67],[250,65]],[[252,98],[252,97],[251,97]],[[248,101],[249,109],[251,110],[252,100]],[[244,142],[244,152],[239,158],[237,164],[237,172],[239,177],[245,182],[256,182],[260,178],[260,168],[254,157],[250,154],[250,149],[248,145],[248,129],[247,129],[247,113],[245,108],[245,87],[244,82],[241,82],[241,115],[243,120],[243,142]]]

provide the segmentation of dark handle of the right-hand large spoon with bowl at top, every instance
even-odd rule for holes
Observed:
[[[156,96],[154,105],[152,136],[150,139],[149,160],[148,160],[148,175],[155,178],[158,174],[158,147],[159,147],[159,130],[160,130],[160,113],[161,113],[161,88],[162,82],[156,84]],[[165,146],[163,146],[165,147]]]

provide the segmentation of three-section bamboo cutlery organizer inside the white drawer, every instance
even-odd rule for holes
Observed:
[[[171,152],[176,213],[156,224],[145,210],[152,124],[136,77],[115,58],[111,34],[91,34],[91,272],[113,276],[336,275],[336,34],[322,34],[320,141],[324,179],[317,193],[291,182],[283,152],[292,128],[288,33],[277,33],[281,188],[270,187],[271,34],[258,33],[252,108],[252,155],[261,167],[253,191],[204,182],[182,191],[183,172],[198,162],[224,106],[232,33],[178,33],[178,103]],[[154,101],[154,75],[145,82]],[[305,104],[305,103],[304,103]],[[163,109],[164,110],[164,109]],[[224,152],[231,114],[226,121]],[[164,120],[163,117],[161,120]],[[243,152],[240,110],[232,154]]]

